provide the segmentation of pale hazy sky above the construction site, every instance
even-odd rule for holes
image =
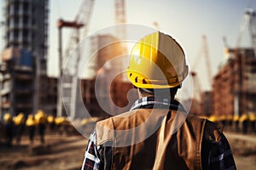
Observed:
[[[59,19],[74,20],[84,0],[49,0],[49,54],[48,74],[57,76],[58,71],[58,31]],[[3,7],[4,0],[1,0]],[[1,8],[2,8],[1,7]],[[181,44],[189,67],[195,66],[201,79],[202,88],[209,88],[206,59],[201,54],[202,36],[207,37],[208,55],[211,60],[212,76],[224,62],[224,42],[226,37],[230,47],[236,46],[236,39],[246,8],[256,8],[256,0],[126,0],[126,23],[154,27],[154,22],[163,31]],[[3,14],[0,21],[3,20]],[[256,23],[255,23],[256,24]],[[89,26],[89,35],[108,26],[114,26],[114,0],[95,0]],[[3,37],[3,26],[0,36]],[[63,50],[68,43],[69,31],[63,33]],[[241,46],[248,47],[247,32],[242,37]],[[3,40],[0,43],[3,49]],[[198,55],[202,55],[200,58]]]

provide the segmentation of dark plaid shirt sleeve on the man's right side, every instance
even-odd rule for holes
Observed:
[[[236,170],[233,153],[224,134],[218,144],[204,140],[201,157],[203,169]]]

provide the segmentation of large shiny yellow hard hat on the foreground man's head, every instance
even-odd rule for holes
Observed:
[[[156,31],[132,48],[126,73],[137,88],[174,88],[188,71],[183,48],[169,35]]]

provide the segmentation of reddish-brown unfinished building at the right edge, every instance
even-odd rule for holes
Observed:
[[[256,111],[256,56],[253,48],[229,48],[213,77],[214,115],[241,116]]]

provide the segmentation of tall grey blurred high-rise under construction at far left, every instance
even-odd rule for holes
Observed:
[[[30,114],[47,106],[49,0],[5,0],[3,9],[1,113]]]

